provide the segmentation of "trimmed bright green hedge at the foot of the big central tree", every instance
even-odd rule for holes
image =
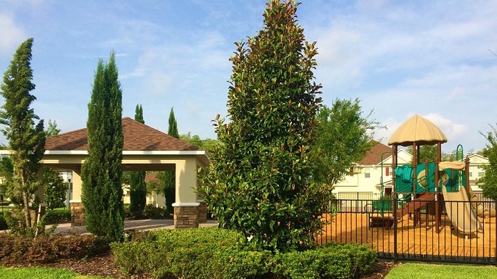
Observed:
[[[125,273],[155,278],[354,278],[376,261],[356,244],[273,254],[239,246],[241,237],[221,228],[149,231],[111,249]]]

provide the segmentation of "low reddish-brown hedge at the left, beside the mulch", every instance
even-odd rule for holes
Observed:
[[[0,265],[89,258],[109,251],[109,245],[94,235],[53,235],[32,239],[0,233]]]

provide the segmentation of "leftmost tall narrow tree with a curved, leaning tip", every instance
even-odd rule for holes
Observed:
[[[10,148],[10,158],[14,175],[12,176],[12,195],[19,199],[22,211],[22,226],[33,228],[36,220],[31,218],[31,205],[36,205],[33,194],[40,187],[37,172],[41,168],[41,159],[45,152],[45,132],[43,120],[30,107],[36,100],[30,91],[35,89],[33,70],[31,69],[31,48],[33,38],[23,42],[14,54],[12,62],[3,74],[1,95],[5,104],[1,107],[0,123]]]

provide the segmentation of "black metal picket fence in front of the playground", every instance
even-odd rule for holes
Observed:
[[[434,195],[406,201],[333,199],[323,217],[329,224],[317,241],[365,244],[378,258],[396,261],[497,264],[496,205],[443,201],[442,195],[437,201]]]

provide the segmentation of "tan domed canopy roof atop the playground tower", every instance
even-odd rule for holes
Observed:
[[[388,141],[388,145],[410,146],[413,143],[417,145],[435,145],[446,142],[446,136],[437,125],[416,114],[395,130]]]

